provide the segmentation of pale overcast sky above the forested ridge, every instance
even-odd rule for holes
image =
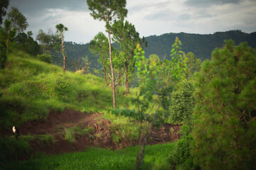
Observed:
[[[55,32],[55,25],[68,27],[65,41],[87,43],[100,31],[104,21],[90,16],[86,0],[11,0],[28,21],[33,35],[39,29]],[[127,0],[127,21],[139,35],[164,33],[209,34],[217,31],[256,31],[256,0]]]

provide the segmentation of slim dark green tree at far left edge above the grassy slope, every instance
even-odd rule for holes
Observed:
[[[11,21],[6,19],[4,21],[3,36],[4,36],[5,43],[6,43],[7,54],[9,53],[9,46],[10,46],[10,43],[14,40],[15,34],[16,34],[16,30],[15,30],[15,28],[13,28],[13,29],[11,28]]]

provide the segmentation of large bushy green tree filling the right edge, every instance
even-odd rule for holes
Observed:
[[[256,52],[226,40],[196,75],[193,155],[202,169],[256,167]]]

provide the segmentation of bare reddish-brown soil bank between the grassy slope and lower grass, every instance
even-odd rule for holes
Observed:
[[[137,145],[137,141],[122,141],[114,143],[110,131],[110,120],[100,118],[101,113],[81,113],[78,111],[51,111],[45,121],[28,122],[19,127],[21,135],[36,137],[30,142],[31,152],[45,152],[46,154],[60,154],[63,152],[83,151],[87,147],[108,147],[119,149]],[[75,134],[75,142],[65,140],[65,128],[79,126],[80,128],[92,128],[88,135]],[[173,132],[170,129],[173,128]],[[178,130],[181,125],[164,124],[157,130],[153,128],[149,137],[149,145],[178,140]],[[6,132],[4,132],[6,133]],[[11,135],[11,130],[9,132]],[[51,135],[54,142],[39,140],[39,135]]]

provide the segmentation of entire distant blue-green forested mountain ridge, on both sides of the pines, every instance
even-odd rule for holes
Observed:
[[[214,34],[191,34],[191,33],[165,33],[163,35],[151,35],[146,37],[148,47],[144,48],[145,56],[156,54],[161,60],[166,57],[169,59],[171,52],[171,45],[174,44],[175,38],[178,37],[181,40],[181,50],[183,52],[193,52],[196,57],[201,60],[210,59],[211,52],[216,47],[222,47],[224,40],[232,39],[235,44],[240,42],[247,42],[250,47],[256,48],[256,32],[243,33],[241,30],[229,30],[225,32],[216,32]],[[117,45],[114,45],[117,47]],[[79,57],[89,57],[91,70],[93,68],[99,69],[100,64],[97,63],[97,58],[93,57],[90,52],[89,43],[77,44],[75,42],[65,42],[65,52],[67,57],[66,68],[74,71],[74,62]],[[63,58],[61,53],[53,57],[53,63],[62,66]]]

